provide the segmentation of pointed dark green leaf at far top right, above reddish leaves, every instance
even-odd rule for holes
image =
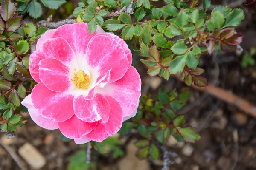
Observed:
[[[226,19],[225,27],[238,26],[244,19],[244,11],[242,9],[234,9]]]

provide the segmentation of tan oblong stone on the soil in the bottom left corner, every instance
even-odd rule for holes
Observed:
[[[46,164],[44,156],[28,142],[18,149],[18,153],[34,169],[40,169]]]

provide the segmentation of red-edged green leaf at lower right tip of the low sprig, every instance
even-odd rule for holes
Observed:
[[[201,138],[199,133],[191,126],[181,128],[180,135],[186,142],[196,142]]]

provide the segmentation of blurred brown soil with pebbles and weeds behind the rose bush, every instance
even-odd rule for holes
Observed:
[[[206,70],[204,76],[211,85],[256,104],[256,12],[244,7],[245,1],[211,1],[207,12],[218,5],[244,9],[245,19],[236,28],[245,35],[241,45],[244,51],[203,55],[199,67]],[[53,20],[63,20],[72,14],[77,3],[78,0],[67,1],[58,10],[45,8],[44,17],[38,20],[46,20],[51,14]],[[160,7],[164,1],[153,4]],[[201,140],[189,144],[170,137],[166,148],[177,153],[171,158],[174,164],[170,170],[256,170],[255,118],[206,92],[187,87],[175,77],[169,81],[149,77],[139,58],[134,56],[133,63],[143,82],[143,95],[156,94],[159,88],[192,91],[188,104],[178,113],[186,115],[187,124],[200,132]],[[16,137],[7,139],[6,133],[0,133],[0,170],[161,170],[163,167],[163,161],[141,161],[135,157],[137,147],[134,143],[141,138],[136,131],[128,136],[116,134],[106,139],[102,144],[105,154],[92,150],[92,164],[87,164],[87,144],[77,145],[62,136],[59,130],[45,130],[37,126],[28,113],[21,114],[28,121],[17,129]]]

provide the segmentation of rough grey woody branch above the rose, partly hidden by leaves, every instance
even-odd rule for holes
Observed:
[[[121,12],[126,12],[128,14],[133,14],[133,1],[131,1],[130,5],[128,6],[125,6],[123,7],[120,11],[116,11],[116,12],[111,12],[110,14],[106,14],[105,16],[103,17],[119,17]],[[62,20],[62,21],[57,21],[57,22],[51,22],[52,20],[52,16],[50,15],[46,21],[42,20],[42,21],[39,21],[37,23],[37,26],[38,27],[48,27],[48,28],[58,28],[62,25],[65,25],[65,24],[73,24],[73,23],[77,23],[76,19],[66,19],[66,20]]]

